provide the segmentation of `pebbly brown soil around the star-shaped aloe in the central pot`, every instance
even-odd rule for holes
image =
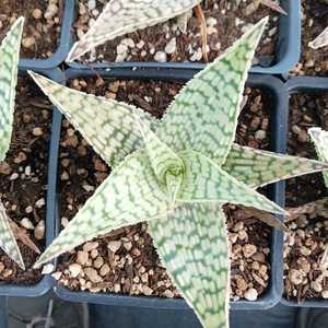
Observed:
[[[125,101],[161,117],[181,84],[165,82],[73,80],[71,87]],[[267,149],[270,98],[246,89],[237,141]],[[260,132],[259,132],[260,131]],[[110,169],[81,134],[62,122],[60,141],[61,227],[66,226]],[[269,279],[270,229],[234,206],[225,208],[233,244],[233,297],[257,297]],[[260,236],[260,237],[259,237]],[[178,293],[161,265],[147,224],[119,229],[63,255],[54,277],[71,290],[175,297]]]

